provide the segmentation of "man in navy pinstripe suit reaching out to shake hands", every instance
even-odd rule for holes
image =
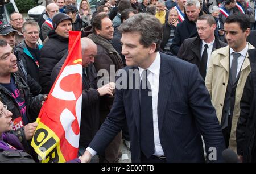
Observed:
[[[224,139],[196,65],[158,52],[162,27],[152,15],[135,14],[119,30],[127,67],[116,81],[112,109],[82,159],[103,152],[126,118],[133,162],[204,162],[201,135],[207,160],[222,161]]]

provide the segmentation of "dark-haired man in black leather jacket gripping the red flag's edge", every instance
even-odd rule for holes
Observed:
[[[34,135],[35,120],[46,97],[32,97],[30,88],[19,76],[13,48],[5,40],[0,40],[0,100],[13,113],[13,134],[18,136],[27,152],[31,152],[30,140]],[[32,123],[34,122],[34,123]]]

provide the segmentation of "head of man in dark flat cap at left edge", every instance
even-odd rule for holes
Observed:
[[[11,46],[16,46],[15,33],[18,32],[11,27],[10,24],[0,24],[0,39],[6,40],[6,42]]]

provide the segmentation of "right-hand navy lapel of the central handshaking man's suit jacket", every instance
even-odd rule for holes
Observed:
[[[164,58],[164,55],[160,53],[161,63],[160,63],[160,74],[159,74],[159,88],[158,88],[158,126],[159,134],[163,128],[164,112],[166,110],[166,105],[168,102],[168,96],[171,90],[171,83],[173,76],[170,73],[170,65],[167,60],[169,57]]]

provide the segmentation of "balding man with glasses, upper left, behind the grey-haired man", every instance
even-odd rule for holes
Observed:
[[[10,24],[11,26],[13,26],[13,28],[15,30],[17,30],[18,32],[15,34],[15,39],[16,39],[16,43],[19,44],[20,42],[22,42],[23,38],[23,34],[22,34],[22,25],[24,23],[24,19],[22,14],[18,13],[18,12],[14,12],[10,15]]]

